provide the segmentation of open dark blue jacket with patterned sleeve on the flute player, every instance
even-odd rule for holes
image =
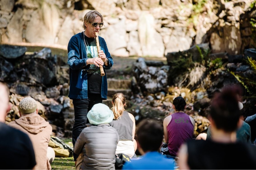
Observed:
[[[111,69],[113,66],[113,59],[108,52],[107,44],[104,38],[99,36],[99,44],[101,49],[108,58],[108,66],[103,65],[103,69]],[[69,98],[85,99],[88,98],[88,82],[87,70],[90,64],[86,64],[87,54],[86,47],[83,40],[83,32],[73,35],[68,43],[68,60],[69,65]],[[107,75],[102,76],[101,97],[103,100],[107,99],[108,84]]]

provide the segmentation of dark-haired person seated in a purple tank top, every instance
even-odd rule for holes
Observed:
[[[182,97],[173,100],[175,113],[167,116],[163,121],[166,144],[160,150],[161,155],[177,156],[181,144],[193,139],[195,120],[184,113],[186,101]]]

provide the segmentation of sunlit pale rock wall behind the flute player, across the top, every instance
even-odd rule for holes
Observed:
[[[1,0],[0,43],[67,48],[83,16],[104,17],[100,36],[113,56],[157,56],[208,43],[213,53],[255,46],[254,0]]]

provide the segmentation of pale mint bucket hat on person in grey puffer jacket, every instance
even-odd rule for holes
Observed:
[[[114,114],[107,105],[97,103],[92,106],[91,110],[87,114],[87,118],[90,124],[98,125],[112,122]]]

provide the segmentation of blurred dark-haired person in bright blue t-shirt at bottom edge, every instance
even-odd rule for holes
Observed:
[[[158,152],[164,135],[161,124],[143,120],[138,124],[136,134],[138,150],[143,156],[124,163],[122,169],[174,169],[173,159],[165,158]]]

